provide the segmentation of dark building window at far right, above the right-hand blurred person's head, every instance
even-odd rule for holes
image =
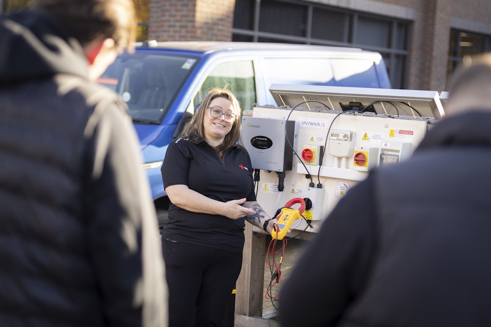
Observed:
[[[462,30],[450,30],[448,48],[447,82],[452,73],[466,55],[491,51],[491,35],[470,33]]]

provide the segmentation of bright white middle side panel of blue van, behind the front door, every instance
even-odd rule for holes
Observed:
[[[266,87],[271,84],[335,85],[328,58],[265,58]]]

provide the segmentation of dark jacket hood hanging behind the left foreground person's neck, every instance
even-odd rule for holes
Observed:
[[[82,46],[54,19],[38,10],[0,17],[0,84],[57,73],[87,78]]]

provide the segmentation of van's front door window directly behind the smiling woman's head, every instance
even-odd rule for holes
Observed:
[[[257,102],[256,79],[251,60],[224,62],[215,67],[194,97],[194,106],[205,98],[207,90],[227,84],[241,102],[242,110],[251,110],[252,104]]]

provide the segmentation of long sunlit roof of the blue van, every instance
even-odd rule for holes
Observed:
[[[216,41],[144,41],[137,42],[137,48],[188,50],[199,53],[219,50],[321,50],[333,52],[372,52],[359,48],[330,47],[307,44],[268,43],[268,42],[216,42]]]

